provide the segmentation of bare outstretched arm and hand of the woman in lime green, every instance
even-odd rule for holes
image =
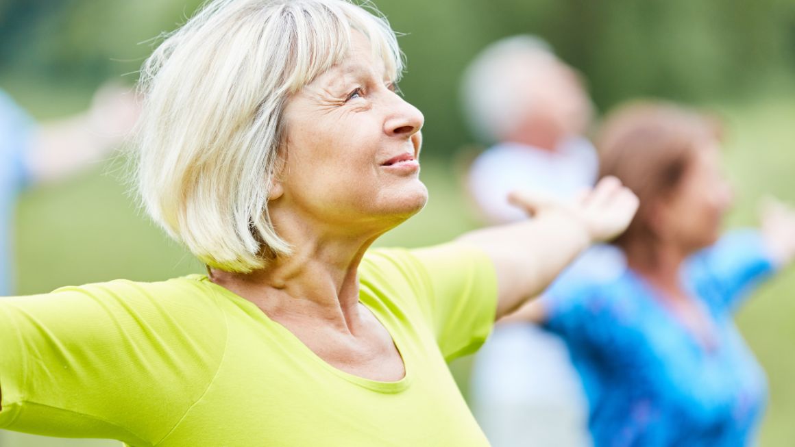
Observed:
[[[475,230],[460,237],[494,262],[498,282],[495,318],[536,296],[584,249],[622,233],[638,210],[638,198],[608,177],[573,203],[527,192],[510,196],[533,219]]]

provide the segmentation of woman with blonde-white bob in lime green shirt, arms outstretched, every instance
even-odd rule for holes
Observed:
[[[615,179],[532,222],[370,250],[425,205],[383,18],[209,4],[145,64],[142,202],[207,264],[0,300],[0,427],[142,447],[487,445],[445,360],[628,225]]]

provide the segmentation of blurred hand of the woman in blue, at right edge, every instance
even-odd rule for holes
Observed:
[[[774,261],[785,266],[795,258],[795,210],[772,197],[760,206],[762,237]]]

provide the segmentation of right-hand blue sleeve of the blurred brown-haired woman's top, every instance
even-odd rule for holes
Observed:
[[[692,256],[686,266],[692,283],[701,289],[700,295],[710,299],[712,306],[730,311],[775,271],[762,234],[755,229],[728,233],[717,244]]]

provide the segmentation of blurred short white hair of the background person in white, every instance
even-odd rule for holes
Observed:
[[[489,45],[463,74],[461,98],[470,128],[485,142],[500,141],[532,106],[528,69],[556,60],[545,40],[529,35],[506,37]]]

